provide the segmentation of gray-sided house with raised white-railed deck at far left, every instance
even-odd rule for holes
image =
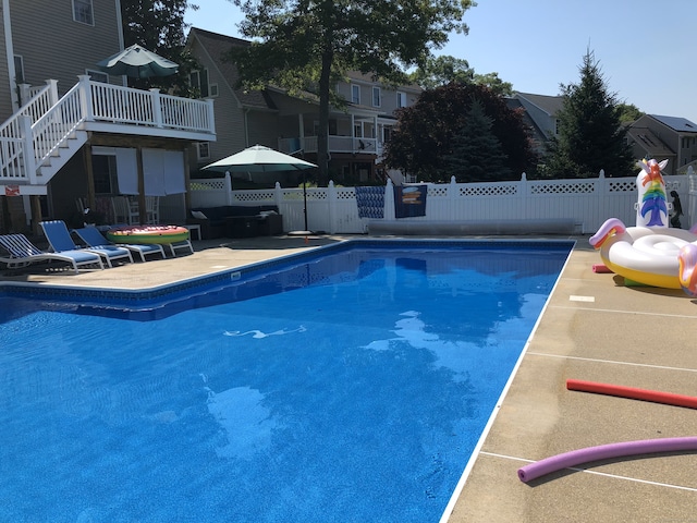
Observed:
[[[211,100],[126,87],[97,62],[123,49],[119,0],[0,0],[0,230],[113,211],[146,195],[185,218],[191,144],[216,141]],[[107,208],[109,207],[109,208]]]

